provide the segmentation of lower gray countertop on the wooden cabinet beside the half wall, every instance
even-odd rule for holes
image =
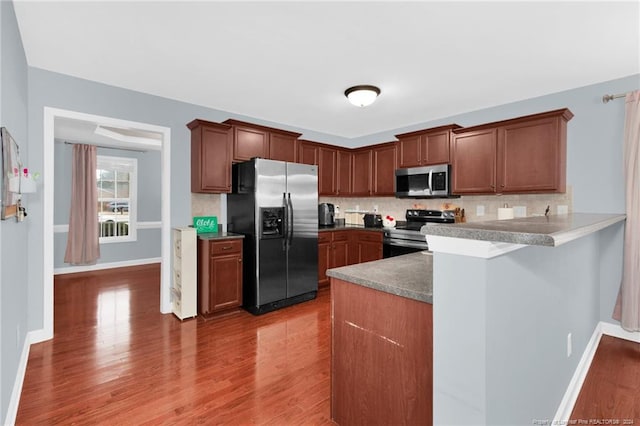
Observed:
[[[329,269],[327,275],[350,283],[433,303],[433,258],[418,252]]]

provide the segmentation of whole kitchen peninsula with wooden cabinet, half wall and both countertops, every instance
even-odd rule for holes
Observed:
[[[601,315],[610,315],[600,312],[601,287],[620,281],[624,220],[575,213],[430,225],[422,232],[432,257],[417,253],[330,270],[333,419],[347,424],[375,407],[376,422],[393,422],[380,413],[407,422],[415,414],[411,392],[422,392],[430,380],[429,423],[566,417],[563,397],[580,356]],[[402,277],[393,280],[395,271]],[[420,300],[421,293],[429,296]],[[357,312],[368,322],[358,322]],[[383,352],[366,353],[370,347]],[[404,378],[404,387],[394,386],[394,378],[414,370],[422,384]],[[375,393],[367,392],[371,386]],[[356,408],[345,408],[344,398]],[[406,401],[400,409],[398,399]]]

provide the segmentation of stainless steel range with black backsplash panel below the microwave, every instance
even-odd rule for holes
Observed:
[[[398,224],[395,228],[385,229],[382,240],[383,257],[394,257],[403,254],[428,250],[429,246],[420,228],[429,223],[454,223],[453,211],[409,209],[405,214],[406,224]]]

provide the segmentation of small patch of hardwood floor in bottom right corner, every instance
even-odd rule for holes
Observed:
[[[571,419],[640,425],[640,343],[602,336]]]

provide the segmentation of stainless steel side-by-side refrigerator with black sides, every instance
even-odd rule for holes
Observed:
[[[262,314],[316,297],[318,167],[254,158],[233,165],[229,232],[244,234],[243,307]]]

